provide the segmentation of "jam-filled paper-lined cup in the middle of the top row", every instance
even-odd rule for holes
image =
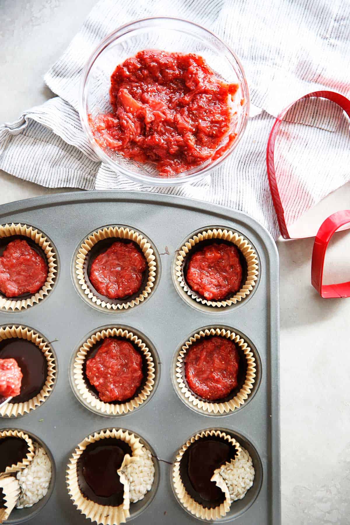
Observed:
[[[80,297],[103,312],[122,312],[154,293],[161,261],[152,241],[129,226],[104,226],[79,244],[72,279]]]

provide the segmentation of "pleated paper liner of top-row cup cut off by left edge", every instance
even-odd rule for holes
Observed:
[[[54,247],[51,245],[50,240],[45,237],[41,232],[38,232],[37,229],[34,229],[32,226],[27,226],[26,224],[4,224],[0,225],[0,238],[10,237],[12,235],[24,235],[40,246],[44,251],[47,260],[47,279],[42,288],[38,290],[33,296],[28,297],[27,299],[7,299],[6,297],[0,297],[0,309],[2,310],[23,310],[33,304],[38,303],[41,299],[44,299],[54,286],[55,279],[57,276],[57,255],[55,253]]]

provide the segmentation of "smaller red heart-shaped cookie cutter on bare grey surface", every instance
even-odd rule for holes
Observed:
[[[333,213],[322,224],[315,237],[312,250],[311,282],[321,297],[350,297],[350,281],[335,285],[323,285],[324,257],[328,243],[337,229],[350,224],[350,209]]]

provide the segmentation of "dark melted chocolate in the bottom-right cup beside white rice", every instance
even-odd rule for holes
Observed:
[[[232,455],[233,454],[233,455]],[[201,440],[188,449],[187,475],[193,489],[204,501],[223,501],[222,490],[210,481],[214,471],[235,457],[228,443],[216,440]]]

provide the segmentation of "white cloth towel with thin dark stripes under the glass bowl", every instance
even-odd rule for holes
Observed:
[[[197,22],[240,57],[253,104],[234,154],[203,180],[180,187],[147,187],[99,161],[79,115],[81,71],[102,38],[149,16]],[[266,171],[274,117],[315,90],[350,96],[348,0],[101,0],[78,35],[45,75],[57,97],[0,125],[0,169],[47,187],[142,190],[202,199],[255,217],[279,234]],[[350,180],[349,122],[332,102],[312,99],[290,112],[275,150],[289,224]],[[334,169],[336,166],[336,169]],[[295,198],[294,188],[302,187]]]

